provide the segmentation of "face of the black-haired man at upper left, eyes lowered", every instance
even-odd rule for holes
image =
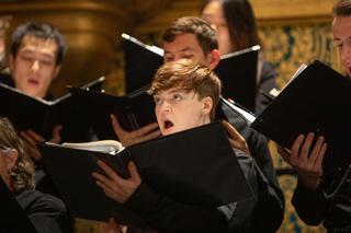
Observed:
[[[24,35],[16,57],[9,56],[15,88],[31,96],[45,97],[60,69],[56,59],[57,44],[54,39]]]

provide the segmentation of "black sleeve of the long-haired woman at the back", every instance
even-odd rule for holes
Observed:
[[[276,88],[275,75],[274,66],[269,61],[263,61],[259,90],[269,93],[272,89]],[[256,96],[254,114],[260,115],[269,103],[270,100],[258,92]]]

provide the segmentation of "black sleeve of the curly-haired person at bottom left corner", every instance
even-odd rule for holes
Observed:
[[[65,203],[50,195],[26,190],[16,197],[38,233],[73,232]]]

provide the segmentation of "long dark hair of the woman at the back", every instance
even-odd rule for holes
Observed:
[[[231,53],[260,45],[254,15],[248,0],[204,0],[201,12],[212,1],[222,5],[234,49]]]

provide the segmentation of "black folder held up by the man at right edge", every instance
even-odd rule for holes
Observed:
[[[351,80],[315,60],[258,117],[249,114],[248,119],[242,113],[239,115],[253,129],[287,149],[299,135],[315,132],[315,141],[324,136],[328,148],[322,168],[329,183],[351,164],[350,103]],[[226,104],[230,106],[229,102]]]

